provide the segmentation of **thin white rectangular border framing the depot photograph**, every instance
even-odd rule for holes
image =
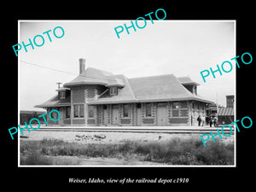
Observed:
[[[97,22],[97,21],[122,21],[122,20],[18,20],[18,43],[20,42],[20,22]],[[130,21],[130,20],[129,20]],[[154,20],[156,22],[161,20]],[[234,38],[235,38],[235,48],[234,48],[234,55],[236,55],[236,20],[165,20],[171,22],[234,22]],[[235,103],[234,103],[234,120],[236,121],[236,67],[235,68]],[[18,123],[20,123],[20,57],[18,56]],[[234,165],[209,165],[209,166],[186,166],[186,165],[170,165],[170,166],[20,166],[20,131],[18,131],[18,167],[236,167],[236,129],[234,128]]]

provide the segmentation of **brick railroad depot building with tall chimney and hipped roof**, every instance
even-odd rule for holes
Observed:
[[[55,125],[197,125],[197,117],[206,115],[212,103],[197,95],[198,85],[173,74],[127,79],[92,67],[85,70],[85,60],[79,59],[79,76],[35,107],[48,114],[57,109],[59,121],[47,117]]]

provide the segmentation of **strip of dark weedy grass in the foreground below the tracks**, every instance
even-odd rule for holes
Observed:
[[[143,162],[161,165],[234,165],[234,143],[208,141],[204,147],[200,139],[183,140],[178,137],[161,143],[78,143],[48,138],[20,140],[20,165],[80,165],[80,161],[73,158],[56,161],[55,157],[137,160],[140,165]]]

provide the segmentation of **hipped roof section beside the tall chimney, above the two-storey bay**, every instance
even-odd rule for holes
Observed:
[[[65,87],[79,85],[79,84],[116,84],[122,86],[122,82],[115,78],[113,73],[102,71],[96,68],[88,67],[83,71],[79,76],[67,84],[64,84]]]

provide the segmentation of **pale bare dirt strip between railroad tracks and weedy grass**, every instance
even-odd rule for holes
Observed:
[[[173,134],[173,133],[135,133],[135,132],[82,132],[82,131],[24,131],[24,136],[21,138],[26,140],[43,140],[61,139],[66,142],[83,142],[83,143],[122,143],[125,141],[137,142],[166,142],[172,138],[180,139],[195,138],[201,140],[201,134]],[[212,139],[212,138],[211,138]],[[209,140],[211,140],[209,139]],[[233,143],[234,135],[223,137],[221,142]]]

